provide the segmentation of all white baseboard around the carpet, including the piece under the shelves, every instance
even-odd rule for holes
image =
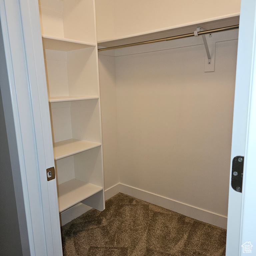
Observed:
[[[166,209],[172,210],[174,212],[181,213],[188,217],[221,227],[227,228],[227,217],[210,212],[192,205],[188,205],[164,196],[156,195],[151,192],[135,188],[122,183],[117,183],[116,185],[105,190],[105,200],[108,200],[112,196],[118,194],[119,192],[136,197],[138,199],[144,200],[146,202],[164,207]],[[72,219],[79,217],[83,213],[89,211],[91,207],[79,203],[73,207],[67,209],[61,213],[62,225],[70,222]]]

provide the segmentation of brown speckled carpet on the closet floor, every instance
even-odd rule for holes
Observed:
[[[225,256],[226,230],[119,193],[62,227],[64,256]]]

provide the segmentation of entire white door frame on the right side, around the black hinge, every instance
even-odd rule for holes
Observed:
[[[253,181],[256,181],[253,155],[256,155],[256,140],[253,130],[256,130],[256,2],[242,0],[239,21],[236,85],[233,112],[232,148],[230,161],[229,202],[226,256],[244,255],[242,245],[250,241],[255,245],[252,252],[256,255],[256,215]],[[254,143],[254,144],[253,144]],[[231,187],[232,160],[236,156],[244,156],[242,193]],[[254,157],[255,158],[255,157]],[[251,200],[248,201],[248,200]],[[254,215],[254,216],[255,216]],[[250,231],[250,232],[249,232]]]

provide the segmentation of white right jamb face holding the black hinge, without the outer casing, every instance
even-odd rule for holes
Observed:
[[[253,76],[253,53],[255,45],[255,7],[254,0],[242,0],[239,21],[236,86],[233,113],[232,148],[230,159],[230,181],[228,201],[228,223],[226,256],[238,256],[241,252],[241,230],[243,223],[243,200],[249,186],[243,180],[243,192],[231,187],[232,160],[236,156],[245,156],[243,179],[246,179],[246,148],[248,143],[249,98],[251,97]],[[256,243],[255,243],[256,244]]]

